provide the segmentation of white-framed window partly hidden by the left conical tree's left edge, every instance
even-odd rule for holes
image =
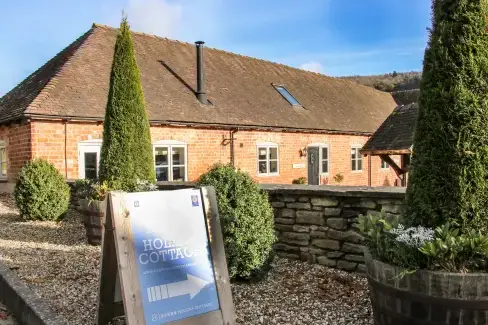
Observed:
[[[78,142],[78,177],[98,178],[102,139]]]

